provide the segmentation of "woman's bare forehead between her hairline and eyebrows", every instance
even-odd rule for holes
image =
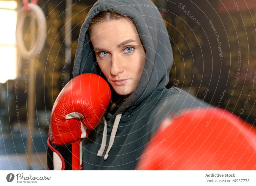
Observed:
[[[136,26],[128,19],[103,21],[94,25],[91,30],[91,40],[95,44],[120,41],[127,37],[134,40],[139,38]]]

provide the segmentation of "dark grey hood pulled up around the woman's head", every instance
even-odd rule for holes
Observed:
[[[150,0],[98,0],[88,12],[80,30],[76,50],[73,77],[83,73],[94,73],[106,77],[97,65],[93,46],[89,40],[89,23],[100,11],[115,11],[130,17],[135,23],[142,44],[146,50],[146,61],[140,81],[132,94],[113,113],[130,114],[143,100],[162,91],[169,82],[172,67],[172,48],[163,18]],[[111,85],[109,84],[111,87]],[[110,104],[115,100],[115,92],[111,87]]]

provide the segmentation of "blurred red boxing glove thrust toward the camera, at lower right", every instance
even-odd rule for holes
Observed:
[[[139,157],[139,170],[256,170],[256,129],[221,108],[165,118]]]

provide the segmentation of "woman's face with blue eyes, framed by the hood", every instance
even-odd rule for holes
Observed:
[[[103,21],[92,27],[91,42],[99,67],[117,94],[132,93],[146,60],[136,27],[128,19]]]

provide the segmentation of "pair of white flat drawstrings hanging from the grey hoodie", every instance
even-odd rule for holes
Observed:
[[[114,140],[115,140],[115,137],[116,137],[116,131],[117,131],[121,116],[122,116],[122,114],[116,115],[116,119],[115,119],[115,122],[114,122],[113,129],[111,131],[109,144],[108,144],[108,149],[107,149],[107,152],[104,156],[104,160],[108,159],[108,153],[109,153],[109,151],[110,151],[110,149],[111,149],[111,147],[114,143]],[[101,145],[100,145],[100,150],[97,153],[97,156],[100,156],[100,157],[102,156],[102,154],[105,150],[105,147],[106,147],[106,143],[107,143],[107,122],[106,122],[105,117],[103,117],[103,121],[104,121],[103,137],[102,137],[102,141],[101,141]]]

